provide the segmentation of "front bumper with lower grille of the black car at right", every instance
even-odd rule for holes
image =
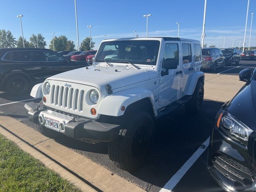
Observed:
[[[256,180],[248,148],[214,126],[208,150],[208,171],[228,192],[255,192]]]

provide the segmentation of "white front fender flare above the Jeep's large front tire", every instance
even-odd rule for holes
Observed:
[[[127,108],[130,104],[144,98],[150,99],[154,114],[157,115],[154,96],[152,92],[144,88],[132,88],[106,96],[100,104],[98,114],[121,116],[124,114],[124,111],[121,110],[122,106]]]

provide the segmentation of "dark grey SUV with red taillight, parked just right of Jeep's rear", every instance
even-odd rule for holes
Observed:
[[[212,69],[216,71],[218,67],[223,67],[225,57],[218,48],[203,48],[202,49],[202,68]]]

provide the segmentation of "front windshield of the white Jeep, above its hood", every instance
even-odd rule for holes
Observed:
[[[98,50],[96,61],[129,61],[135,64],[156,65],[160,41],[125,40],[103,42]]]

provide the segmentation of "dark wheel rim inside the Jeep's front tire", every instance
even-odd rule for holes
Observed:
[[[132,156],[136,159],[141,158],[148,149],[149,133],[146,125],[138,127],[132,140]]]

